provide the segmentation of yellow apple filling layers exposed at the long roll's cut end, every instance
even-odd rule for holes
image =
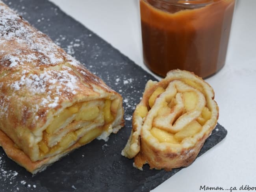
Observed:
[[[41,157],[60,153],[78,143],[87,144],[108,131],[115,119],[120,100],[76,103],[54,117],[38,143]]]

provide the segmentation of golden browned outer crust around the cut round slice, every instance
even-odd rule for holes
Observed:
[[[161,110],[164,93],[158,96],[154,102],[156,107],[153,106],[152,108],[149,106],[150,96],[158,87],[169,89],[171,84],[175,84],[175,86],[186,86],[188,87],[186,89],[201,92],[206,100],[206,106],[211,110],[211,117],[202,125],[202,129],[193,135],[193,137],[184,138],[178,144],[160,142],[150,132],[153,127],[153,119],[158,116],[158,111]],[[199,85],[199,87],[197,87],[197,85]],[[174,89],[176,89],[176,87]],[[165,90],[165,92],[167,91]],[[165,93],[165,96],[168,97],[168,94]],[[145,92],[143,93],[143,98],[134,111],[132,133],[124,150],[122,150],[122,155],[128,158],[135,158],[134,166],[140,170],[142,170],[143,164],[145,163],[148,163],[150,168],[163,168],[167,171],[173,168],[188,166],[195,160],[206,138],[209,137],[211,131],[217,124],[219,108],[213,99],[214,92],[210,85],[191,72],[172,70],[167,73],[167,77],[160,82],[148,81]],[[145,106],[149,109],[144,118],[141,118],[139,115],[141,106]],[[182,110],[184,111],[184,109]],[[197,111],[197,109],[194,109],[194,111]],[[184,118],[186,113],[183,112],[182,116],[179,115],[180,118]],[[200,116],[201,113],[202,112],[199,112],[198,115]],[[193,120],[197,119],[198,115],[194,117]]]

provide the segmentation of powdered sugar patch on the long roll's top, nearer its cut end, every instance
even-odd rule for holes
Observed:
[[[78,77],[69,73],[71,68],[62,66],[60,69],[56,71],[54,68],[47,68],[39,74],[26,74],[26,72],[22,72],[21,74],[23,75],[20,79],[7,84],[7,86],[17,91],[14,92],[14,95],[21,92],[26,92],[27,97],[36,94],[47,94],[41,98],[41,101],[38,101],[39,106],[37,108],[46,106],[55,108],[60,102],[59,96],[63,97],[63,92],[69,96],[76,94],[79,88],[77,85]]]

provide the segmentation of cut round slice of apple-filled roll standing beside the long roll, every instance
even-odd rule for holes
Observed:
[[[172,70],[160,82],[148,81],[122,155],[141,170],[145,163],[165,170],[188,166],[217,124],[213,99],[210,85],[191,72]]]

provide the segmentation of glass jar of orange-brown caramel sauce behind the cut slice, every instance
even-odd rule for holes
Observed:
[[[154,73],[206,78],[225,63],[235,0],[140,0],[143,58]]]

